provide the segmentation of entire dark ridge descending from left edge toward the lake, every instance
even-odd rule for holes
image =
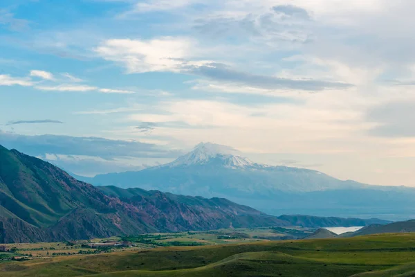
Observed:
[[[329,221],[345,224],[344,219]],[[387,222],[349,220],[349,224],[355,223]],[[77,181],[46,161],[0,146],[0,243],[293,224],[328,223],[320,217],[266,215],[217,197],[98,188]]]

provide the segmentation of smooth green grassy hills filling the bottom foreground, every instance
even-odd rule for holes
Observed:
[[[0,265],[0,272],[2,277],[351,276],[367,271],[358,276],[397,276],[415,271],[414,251],[415,234],[405,233],[59,257],[10,262]]]

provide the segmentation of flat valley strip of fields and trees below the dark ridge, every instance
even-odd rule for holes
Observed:
[[[129,237],[78,240],[77,242],[16,243],[5,245],[8,249],[13,249],[13,254],[10,253],[8,255],[9,258],[12,256],[48,258],[54,256],[72,256],[116,251],[139,251],[155,247],[203,246],[285,239],[286,235],[280,232],[281,230],[275,231],[272,228],[223,229],[183,233],[152,233]],[[301,232],[311,233],[311,230],[303,229]],[[102,244],[105,242],[122,243],[123,241],[130,242],[131,245],[129,245],[129,247],[98,247],[94,249],[89,247],[89,244]]]

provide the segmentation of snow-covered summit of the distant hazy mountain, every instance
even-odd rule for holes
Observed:
[[[238,156],[239,152],[225,145],[199,143],[193,150],[178,157],[169,167],[205,165],[208,163],[228,168],[252,168],[258,166],[249,159]]]

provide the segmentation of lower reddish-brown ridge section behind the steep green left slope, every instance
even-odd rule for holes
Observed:
[[[289,224],[248,206],[234,204],[227,199],[187,197],[139,188],[122,190],[114,186],[100,187],[100,190],[109,196],[119,197],[133,206],[142,207],[147,213],[151,213],[156,226],[162,231],[287,226]]]

